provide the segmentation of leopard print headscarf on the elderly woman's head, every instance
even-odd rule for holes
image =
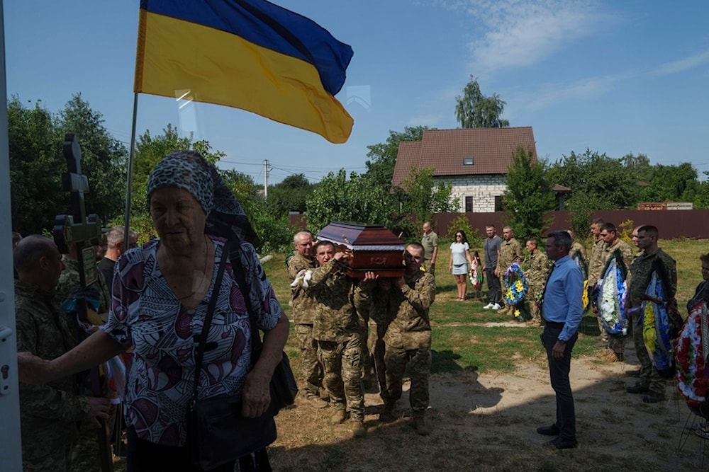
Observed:
[[[157,163],[147,179],[147,205],[152,192],[177,187],[193,195],[207,214],[205,233],[258,245],[241,204],[216,168],[196,151],[174,151]]]

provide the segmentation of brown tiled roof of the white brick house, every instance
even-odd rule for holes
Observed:
[[[518,146],[537,159],[532,127],[426,129],[420,142],[399,143],[392,184],[408,178],[412,166],[435,168],[435,176],[506,174]],[[469,157],[474,165],[464,166]]]

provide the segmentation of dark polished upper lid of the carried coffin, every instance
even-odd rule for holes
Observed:
[[[403,251],[404,243],[381,224],[332,221],[318,232],[318,241],[346,246],[352,251]]]

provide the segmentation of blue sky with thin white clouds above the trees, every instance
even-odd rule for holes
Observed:
[[[188,0],[186,0],[188,1]],[[337,98],[354,117],[346,144],[250,113],[140,95],[138,133],[167,123],[225,151],[221,164],[262,183],[366,170],[367,145],[408,125],[454,128],[472,74],[512,126],[531,126],[550,161],[586,148],[709,171],[709,2],[277,0],[352,45]],[[62,109],[81,92],[128,143],[137,0],[5,0],[7,92]],[[192,115],[189,115],[192,113]],[[196,121],[194,120],[196,116]]]

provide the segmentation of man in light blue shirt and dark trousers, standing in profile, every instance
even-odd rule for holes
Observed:
[[[549,380],[557,396],[557,421],[550,426],[538,427],[537,432],[556,436],[544,444],[557,449],[569,449],[578,444],[569,370],[571,350],[579,337],[576,331],[584,311],[581,304],[584,275],[579,265],[569,257],[571,243],[571,236],[566,231],[552,231],[547,234],[545,245],[547,256],[554,261],[554,267],[542,297],[542,317],[545,323],[542,344],[547,350]]]

